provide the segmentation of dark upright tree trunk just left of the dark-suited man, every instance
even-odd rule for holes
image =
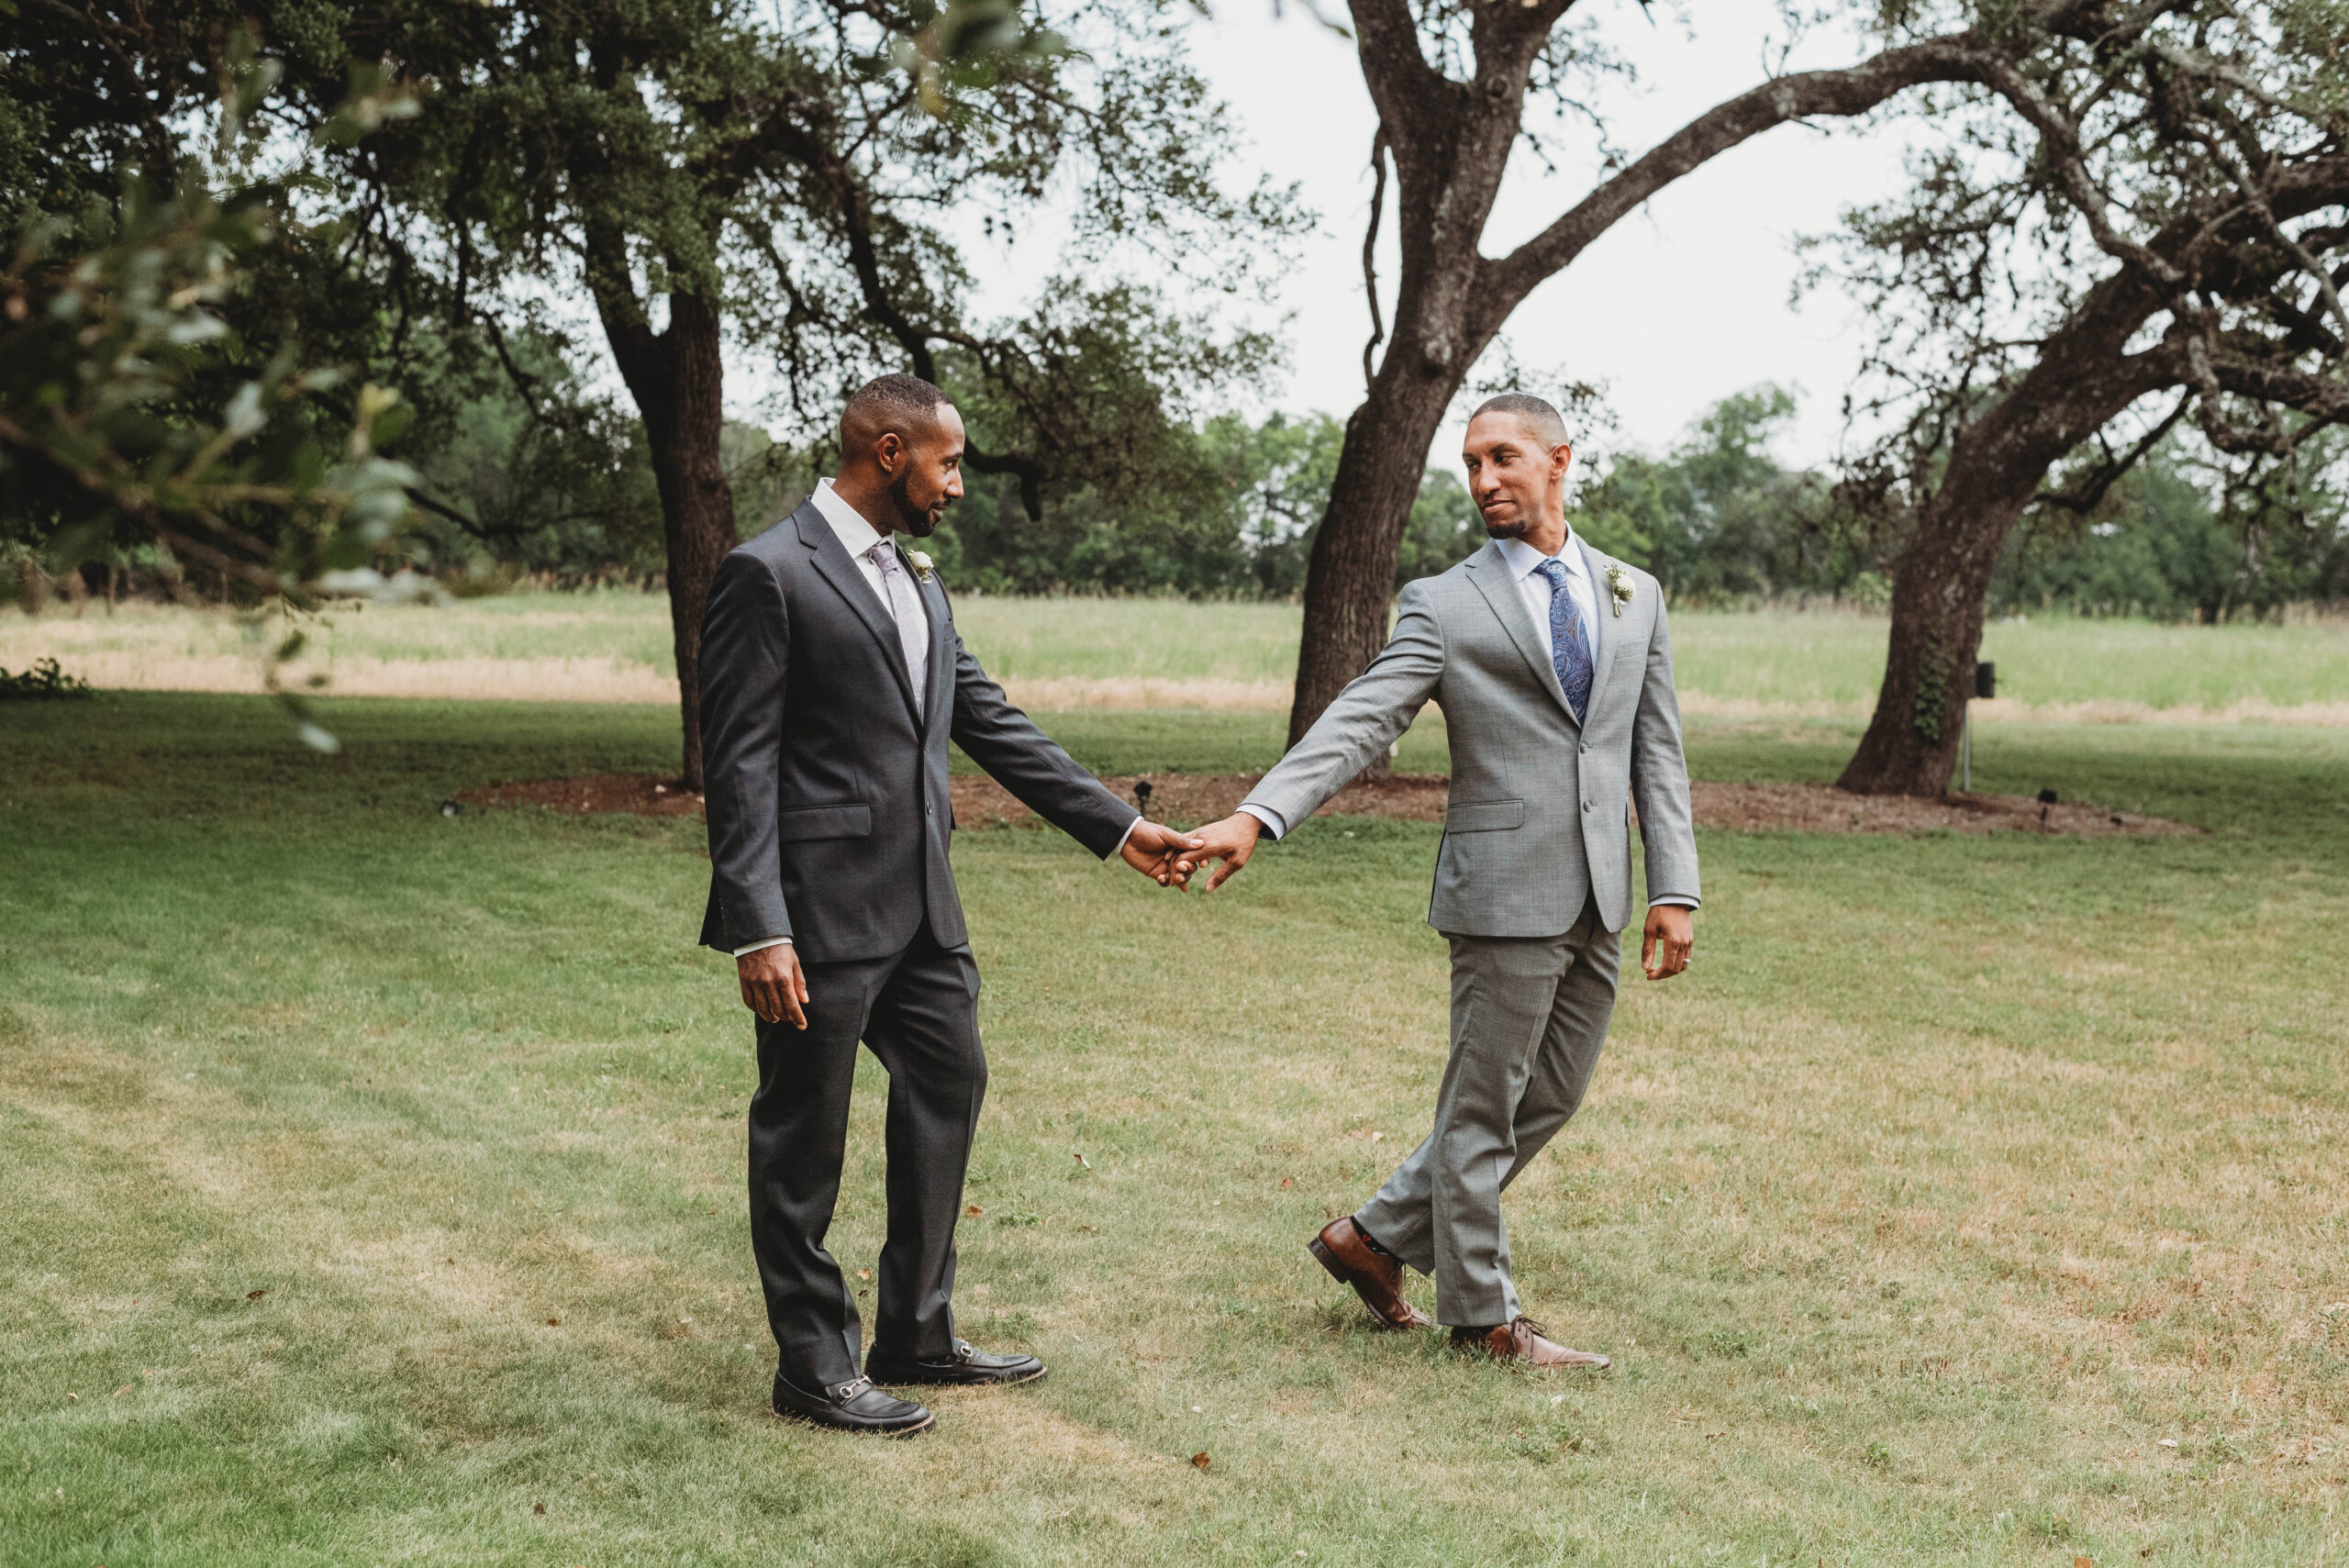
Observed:
[[[733,486],[719,458],[726,427],[719,329],[716,307],[698,293],[669,293],[669,326],[660,333],[632,310],[604,310],[604,331],[644,415],[660,488],[684,786],[691,791],[702,789],[702,608],[719,561],[735,547]]]

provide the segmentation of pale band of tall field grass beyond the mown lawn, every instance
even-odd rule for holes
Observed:
[[[1163,678],[1273,681],[1297,669],[1297,606],[1184,603],[1174,599],[956,601],[956,622],[989,671],[1005,681]],[[1680,688],[1712,699],[1842,704],[1865,709],[1884,671],[1886,622],[1867,615],[1766,610],[1672,615]],[[319,643],[336,660],[611,657],[669,671],[669,608],[658,594],[510,594],[444,608],[338,608]],[[218,617],[171,608],[52,610],[38,622],[0,617],[0,664],[78,653],[148,657],[233,650]],[[2142,702],[2227,707],[2342,702],[2349,695],[2349,622],[2293,627],[2163,627],[2133,620],[2039,617],[1992,622],[1983,657],[1999,692],[2032,704]]]

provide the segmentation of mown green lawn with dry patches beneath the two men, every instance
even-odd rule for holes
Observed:
[[[1703,836],[1696,969],[1628,981],[1510,1195],[1602,1378],[1372,1333],[1301,1251],[1426,1124],[1433,829],[1313,822],[1214,899],[965,833],[963,1331],[1052,1378],[883,1444],[766,1413],[698,824],[435,812],[665,768],[674,716],[329,714],[334,758],[256,699],[0,709],[12,1568],[2349,1563],[2349,732],[1978,756],[2201,838]],[[1851,742],[1691,730],[1703,777]],[[848,1268],[879,1110],[867,1063]]]

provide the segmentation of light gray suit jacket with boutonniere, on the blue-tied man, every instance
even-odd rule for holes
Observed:
[[[1600,606],[1586,723],[1574,723],[1508,561],[1487,545],[1402,589],[1386,648],[1257,782],[1247,805],[1297,826],[1433,699],[1452,735],[1452,803],[1428,925],[1456,937],[1557,937],[1595,894],[1607,930],[1623,930],[1633,803],[1649,899],[1698,899],[1663,592],[1644,570],[1581,549]],[[1633,584],[1621,615],[1609,566]]]

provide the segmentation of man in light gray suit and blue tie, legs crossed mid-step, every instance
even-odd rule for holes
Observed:
[[[1463,451],[1492,545],[1402,589],[1395,634],[1186,859],[1247,864],[1259,833],[1311,817],[1426,702],[1452,735],[1452,800],[1428,925],[1452,939],[1452,1061],[1435,1127],[1313,1256],[1381,1322],[1426,1326],[1402,1265],[1435,1277],[1454,1343],[1536,1366],[1607,1366],[1550,1343],[1508,1275],[1501,1190],[1590,1084],[1633,911],[1630,810],[1647,847],[1649,979],[1689,965],[1696,838],[1663,594],[1567,526],[1557,411],[1522,394],[1475,411]],[[1189,869],[1189,866],[1184,866]]]

